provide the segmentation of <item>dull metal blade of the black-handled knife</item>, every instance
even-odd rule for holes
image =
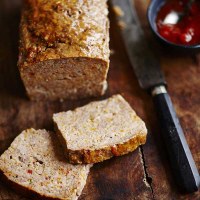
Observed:
[[[118,22],[124,24],[122,37],[125,42],[127,53],[132,67],[143,89],[150,89],[156,85],[166,84],[161,72],[158,60],[152,53],[153,49],[148,46],[144,32],[132,0],[112,0]]]

